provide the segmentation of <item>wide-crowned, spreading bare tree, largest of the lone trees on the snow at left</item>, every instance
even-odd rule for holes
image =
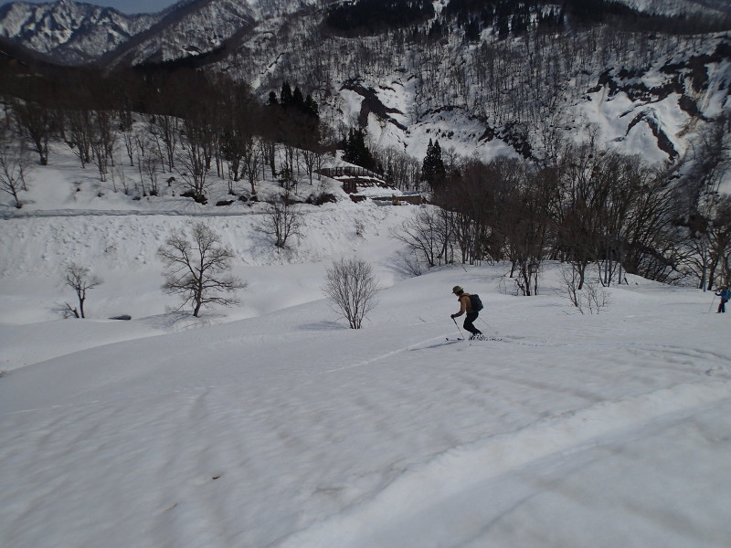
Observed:
[[[175,233],[157,254],[166,267],[163,291],[181,296],[178,310],[191,303],[196,318],[204,306],[236,304],[236,290],[246,287],[228,274],[233,250],[222,246],[220,237],[203,223],[193,226],[192,242],[184,232]]]

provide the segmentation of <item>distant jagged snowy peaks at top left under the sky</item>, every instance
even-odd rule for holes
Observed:
[[[307,5],[293,0],[182,0],[157,14],[127,16],[97,5],[59,0],[0,7],[0,36],[58,61],[132,64],[169,61],[217,49],[256,20]]]

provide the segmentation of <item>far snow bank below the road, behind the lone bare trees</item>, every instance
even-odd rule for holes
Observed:
[[[284,251],[276,250],[257,230],[263,222],[260,215],[195,217],[204,218],[233,249],[235,273],[249,283],[241,294],[244,306],[233,311],[233,318],[320,299],[323,270],[339,255],[384,255],[381,283],[390,285],[400,276],[395,258],[388,258],[397,250],[396,242],[388,240],[388,227],[400,223],[413,208],[307,207],[305,237]],[[0,262],[4,279],[0,322],[58,318],[58,302],[73,297],[62,284],[70,261],[104,279],[104,284],[89,293],[91,318],[122,313],[147,317],[164,313],[166,304],[175,304],[160,291],[163,265],[156,252],[172,232],[190,227],[193,219],[189,216],[42,216],[1,222],[0,248],[6,259]],[[356,222],[364,227],[361,236],[356,235]],[[369,243],[371,240],[374,242]],[[297,281],[318,277],[312,287]]]

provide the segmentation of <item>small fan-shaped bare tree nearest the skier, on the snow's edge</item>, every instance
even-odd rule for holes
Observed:
[[[335,260],[325,274],[324,295],[335,311],[343,314],[350,329],[360,329],[378,301],[378,285],[373,268],[360,258]]]

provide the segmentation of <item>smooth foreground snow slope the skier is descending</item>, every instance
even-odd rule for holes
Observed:
[[[4,545],[724,546],[727,316],[652,283],[567,314],[502,272],[398,281],[361,331],[313,300],[11,371]],[[502,341],[444,340],[455,283]]]

